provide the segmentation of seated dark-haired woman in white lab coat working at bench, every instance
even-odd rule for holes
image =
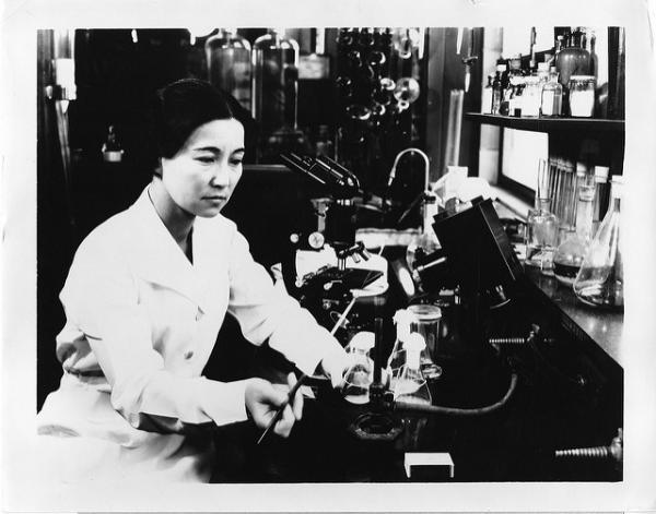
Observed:
[[[60,295],[65,373],[38,415],[59,477],[207,481],[208,427],[248,417],[266,427],[284,391],[201,376],[226,311],[251,343],[268,339],[305,373],[340,382],[341,346],[273,287],[220,214],[242,175],[246,117],[204,82],[159,92],[160,167],[130,208],[82,242]],[[296,395],[274,432],[286,437],[301,409]]]

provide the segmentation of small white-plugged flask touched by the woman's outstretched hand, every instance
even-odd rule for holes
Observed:
[[[360,332],[349,343],[349,369],[344,373],[342,394],[347,402],[366,404],[374,380],[374,361],[368,354],[375,344],[373,332]]]

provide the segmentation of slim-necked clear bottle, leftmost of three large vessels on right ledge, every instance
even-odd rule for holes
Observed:
[[[551,213],[551,180],[547,163],[538,163],[538,183],[535,208],[528,211],[526,223],[525,265],[540,268],[544,274],[553,270],[553,252],[558,243],[558,217]]]

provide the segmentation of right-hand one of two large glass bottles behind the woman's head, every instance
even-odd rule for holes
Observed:
[[[270,28],[253,45],[253,116],[263,134],[296,125],[298,44]]]

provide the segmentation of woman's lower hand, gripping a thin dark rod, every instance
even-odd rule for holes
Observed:
[[[269,426],[278,408],[286,402],[288,394],[295,383],[296,376],[294,373],[288,375],[288,385],[273,385],[262,379],[250,380],[250,383],[246,386],[245,402],[246,409],[257,427],[266,429]],[[301,419],[302,414],[303,394],[298,390],[293,401],[284,407],[282,416],[273,427],[273,432],[286,438],[292,431],[294,422]]]

